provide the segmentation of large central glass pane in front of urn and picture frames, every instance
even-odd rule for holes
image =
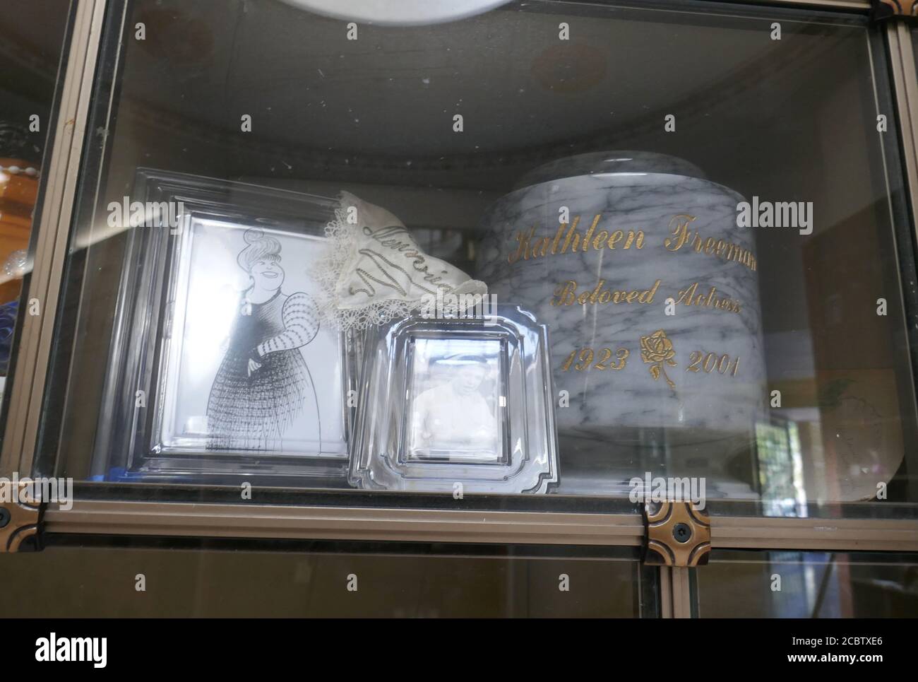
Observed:
[[[39,473],[914,513],[882,30],[300,5],[112,3]]]

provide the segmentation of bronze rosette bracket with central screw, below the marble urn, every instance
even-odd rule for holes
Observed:
[[[700,566],[711,552],[711,517],[691,502],[648,502],[644,563]]]

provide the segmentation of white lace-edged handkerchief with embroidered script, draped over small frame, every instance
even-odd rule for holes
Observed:
[[[322,317],[344,329],[365,329],[405,316],[440,295],[484,296],[487,285],[426,255],[392,213],[341,192],[325,228],[329,255],[317,279],[326,293]]]

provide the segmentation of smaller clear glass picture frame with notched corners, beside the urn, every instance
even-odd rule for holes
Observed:
[[[367,490],[548,493],[558,483],[548,331],[516,306],[368,332],[350,480]]]

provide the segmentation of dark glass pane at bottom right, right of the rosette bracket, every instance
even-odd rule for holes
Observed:
[[[914,618],[912,554],[711,552],[694,571],[702,618]]]

